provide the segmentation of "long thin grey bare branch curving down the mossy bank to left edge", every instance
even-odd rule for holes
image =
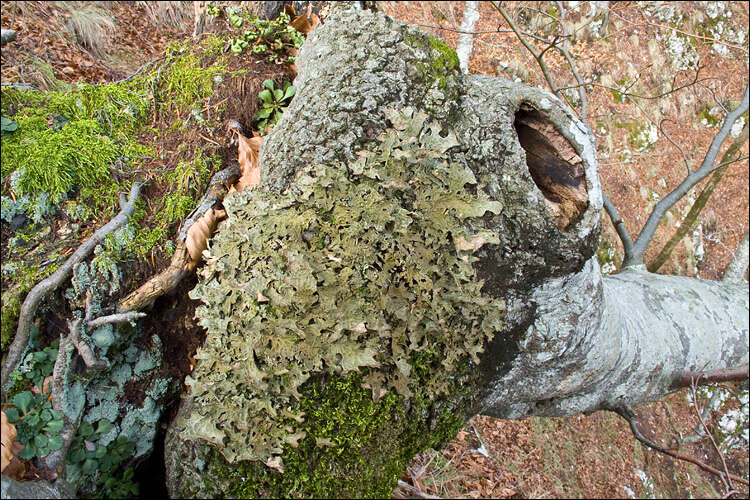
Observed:
[[[141,187],[143,186],[140,182],[133,183],[133,187],[130,190],[130,196],[128,197],[127,203],[122,207],[120,213],[113,217],[107,224],[99,228],[94,232],[91,237],[83,242],[75,252],[60,266],[57,271],[52,273],[49,277],[40,281],[31,289],[26,295],[26,299],[21,305],[21,311],[18,315],[18,328],[16,330],[16,336],[13,339],[13,343],[8,348],[8,355],[5,359],[5,364],[2,368],[2,400],[5,401],[7,396],[8,388],[10,387],[11,378],[10,374],[13,370],[18,367],[21,362],[21,357],[26,349],[26,345],[29,342],[29,333],[31,332],[31,324],[34,320],[34,315],[39,307],[42,300],[52,291],[56,290],[62,283],[70,276],[73,272],[73,267],[83,261],[94,247],[98,245],[105,236],[112,231],[118,229],[120,226],[125,224],[128,218],[133,215],[135,210],[135,201],[140,194]]]

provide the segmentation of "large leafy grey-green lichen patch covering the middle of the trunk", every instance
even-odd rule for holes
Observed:
[[[280,467],[284,445],[306,435],[298,389],[314,374],[361,370],[374,401],[391,390],[408,398],[415,355],[438,356],[442,376],[419,387],[436,398],[502,327],[504,303],[481,294],[472,267],[497,235],[462,223],[502,206],[449,161],[453,132],[410,108],[387,118],[377,150],[348,168],[309,166],[281,195],[226,200],[191,292],[207,338],[186,379],[197,404],[183,439],[213,443],[229,462]]]

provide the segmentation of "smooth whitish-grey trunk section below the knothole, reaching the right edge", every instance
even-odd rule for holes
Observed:
[[[480,413],[565,416],[661,399],[684,371],[748,363],[748,286],[652,274],[602,276],[596,257],[538,287],[533,323]]]

